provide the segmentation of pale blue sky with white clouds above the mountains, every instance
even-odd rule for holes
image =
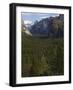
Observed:
[[[40,21],[41,19],[44,18],[49,18],[49,17],[55,17],[58,16],[59,14],[54,14],[54,13],[32,13],[32,12],[22,12],[21,13],[21,19],[24,21],[25,24],[34,24],[34,22]]]

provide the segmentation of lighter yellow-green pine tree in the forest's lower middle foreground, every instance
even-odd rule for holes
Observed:
[[[48,69],[48,64],[46,62],[46,57],[42,55],[40,60],[37,60],[32,67],[32,75],[43,75],[44,72]]]

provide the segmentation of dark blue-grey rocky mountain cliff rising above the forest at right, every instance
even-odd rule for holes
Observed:
[[[64,36],[64,15],[50,17],[36,21],[31,26],[30,32],[34,37],[63,37]]]

